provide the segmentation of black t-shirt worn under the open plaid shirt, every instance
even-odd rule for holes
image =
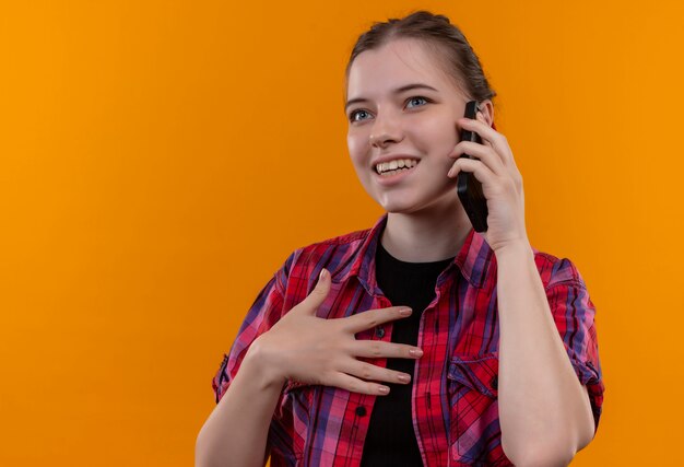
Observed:
[[[405,262],[391,256],[380,242],[376,253],[376,278],[392,305],[408,305],[410,317],[393,322],[392,342],[415,346],[423,311],[435,297],[437,277],[453,258],[433,262]],[[413,377],[411,359],[388,359],[387,367]],[[411,417],[411,384],[389,384],[390,393],[378,396],[364,444],[362,467],[422,466]]]

